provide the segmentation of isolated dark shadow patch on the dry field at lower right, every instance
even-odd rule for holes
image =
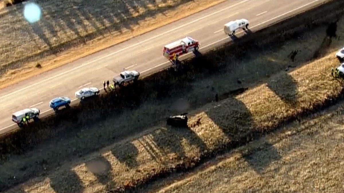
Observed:
[[[262,174],[264,170],[273,161],[280,160],[282,157],[279,155],[277,149],[271,143],[265,141],[258,149],[247,151],[243,154],[243,158],[258,174]]]

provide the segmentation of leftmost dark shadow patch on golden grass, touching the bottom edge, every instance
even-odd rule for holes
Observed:
[[[80,181],[78,175],[71,169],[65,171],[63,175],[66,178],[61,178],[61,176],[50,177],[50,186],[56,193],[81,193],[84,191],[82,182]]]

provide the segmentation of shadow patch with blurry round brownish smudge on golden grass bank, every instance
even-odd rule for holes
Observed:
[[[109,189],[115,187],[111,177],[111,164],[104,157],[100,156],[86,162],[86,167],[88,171],[92,172],[97,177],[98,182],[106,185]]]

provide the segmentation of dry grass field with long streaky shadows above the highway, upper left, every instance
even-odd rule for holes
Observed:
[[[0,10],[0,88],[223,1],[38,0],[43,15],[35,24],[23,18],[22,4],[3,8]]]

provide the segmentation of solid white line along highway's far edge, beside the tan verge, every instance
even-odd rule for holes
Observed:
[[[96,62],[96,61],[98,61],[98,60],[107,58],[107,57],[109,57],[109,56],[112,56],[112,55],[114,55],[114,54],[117,54],[117,53],[119,53],[119,52],[122,52],[122,51],[124,51],[124,50],[127,50],[127,49],[129,49],[129,48],[132,48],[132,47],[135,47],[135,46],[137,46],[137,45],[140,45],[141,43],[151,41],[151,40],[154,39],[154,38],[157,38],[157,37],[160,37],[160,36],[162,36],[162,35],[168,34],[168,33],[172,32],[172,31],[174,31],[174,30],[178,30],[178,29],[180,29],[180,28],[182,28],[182,27],[184,27],[184,26],[187,26],[187,25],[190,25],[190,24],[192,24],[192,23],[195,23],[195,22],[197,22],[197,21],[199,21],[199,20],[202,20],[202,19],[204,19],[204,18],[207,18],[207,17],[209,17],[209,16],[212,16],[212,15],[214,15],[214,14],[216,14],[216,13],[222,12],[222,11],[224,11],[224,10],[226,10],[226,9],[233,8],[233,7],[235,7],[236,5],[245,3],[245,2],[247,2],[247,1],[250,1],[250,0],[240,1],[240,2],[238,2],[238,3],[236,3],[236,4],[230,5],[229,7],[226,7],[226,8],[223,8],[223,9],[221,9],[221,10],[215,11],[215,12],[213,12],[213,13],[211,13],[211,14],[205,15],[205,16],[203,16],[203,17],[201,17],[201,18],[198,18],[198,19],[193,20],[193,21],[191,21],[191,22],[185,23],[185,24],[180,25],[180,26],[178,26],[178,27],[175,27],[175,28],[173,28],[173,29],[171,29],[171,30],[168,30],[168,31],[165,31],[165,32],[160,33],[160,34],[158,34],[158,35],[152,36],[152,37],[150,37],[150,38],[148,38],[148,39],[145,39],[145,40],[143,40],[143,41],[141,41],[141,42],[138,42],[138,43],[132,44],[132,45],[130,45],[130,46],[127,46],[127,47],[125,47],[125,48],[122,48],[122,49],[120,49],[120,50],[117,50],[116,52],[113,52],[113,53],[111,53],[111,54],[108,54],[108,55],[99,57],[99,58],[97,58],[97,59],[91,60],[91,61],[89,61],[89,62],[87,62],[87,63],[84,63],[84,64],[82,64],[82,65],[80,65],[80,66],[77,66],[77,67],[74,67],[74,68],[72,68],[72,69],[66,70],[66,71],[64,71],[64,72],[62,72],[62,73],[59,73],[59,74],[57,74],[57,75],[55,75],[55,76],[52,76],[52,77],[49,77],[49,78],[47,78],[47,79],[45,79],[45,80],[42,80],[42,81],[39,81],[39,82],[30,84],[30,85],[27,86],[27,87],[24,87],[24,88],[15,90],[15,91],[13,91],[13,92],[11,92],[11,93],[8,93],[8,94],[5,94],[5,95],[3,95],[3,96],[0,96],[0,99],[3,99],[3,98],[5,98],[5,97],[7,97],[7,96],[9,96],[9,95],[12,95],[12,94],[15,94],[15,93],[17,93],[17,92],[20,92],[20,91],[26,90],[26,89],[28,89],[28,88],[31,88],[31,87],[33,87],[33,86],[36,86],[37,84],[41,84],[42,82],[46,82],[46,81],[48,81],[48,80],[52,80],[52,79],[54,79],[54,78],[56,78],[56,77],[59,77],[59,76],[61,76],[61,75],[64,75],[65,73],[68,73],[68,72],[74,71],[74,70],[76,70],[76,69],[82,68],[82,67],[87,66],[87,65],[89,65],[89,64],[92,64],[92,63],[94,63],[94,62]],[[115,45],[115,46],[116,46],[116,45]]]

